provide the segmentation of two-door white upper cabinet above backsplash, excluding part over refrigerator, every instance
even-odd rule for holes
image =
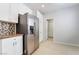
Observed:
[[[0,21],[18,23],[17,4],[0,3]]]

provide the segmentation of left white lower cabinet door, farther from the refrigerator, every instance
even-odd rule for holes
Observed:
[[[7,38],[2,40],[2,54],[5,55],[15,54],[15,42],[13,38]]]

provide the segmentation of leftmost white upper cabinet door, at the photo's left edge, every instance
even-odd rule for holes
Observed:
[[[10,11],[9,7],[8,3],[0,3],[0,20],[8,21]]]

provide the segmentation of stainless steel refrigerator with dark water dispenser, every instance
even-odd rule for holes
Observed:
[[[39,19],[31,14],[19,14],[17,33],[23,34],[23,54],[32,54],[39,48]]]

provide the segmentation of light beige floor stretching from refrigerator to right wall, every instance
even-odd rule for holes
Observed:
[[[79,47],[53,43],[52,39],[48,39],[33,55],[79,55]]]

